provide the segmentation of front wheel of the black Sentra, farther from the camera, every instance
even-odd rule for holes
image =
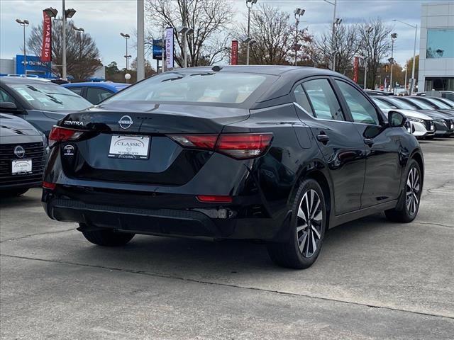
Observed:
[[[418,162],[411,159],[405,173],[405,184],[396,208],[384,211],[384,215],[393,222],[408,223],[418,215],[421,203],[422,176]]]

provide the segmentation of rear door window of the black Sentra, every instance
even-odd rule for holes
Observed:
[[[309,80],[304,82],[303,86],[317,118],[345,120],[341,105],[327,79]]]

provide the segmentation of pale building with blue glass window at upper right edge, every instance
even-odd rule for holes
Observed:
[[[454,91],[454,1],[421,6],[418,90]]]

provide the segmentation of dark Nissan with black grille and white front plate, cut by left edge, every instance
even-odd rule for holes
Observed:
[[[41,186],[47,140],[25,120],[0,113],[0,196]]]

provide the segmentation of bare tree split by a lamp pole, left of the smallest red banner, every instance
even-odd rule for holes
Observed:
[[[336,71],[345,74],[353,67],[353,58],[360,50],[358,25],[341,25],[336,29],[332,39],[331,28],[314,40],[311,59],[314,64],[331,67],[333,55],[336,53]]]

